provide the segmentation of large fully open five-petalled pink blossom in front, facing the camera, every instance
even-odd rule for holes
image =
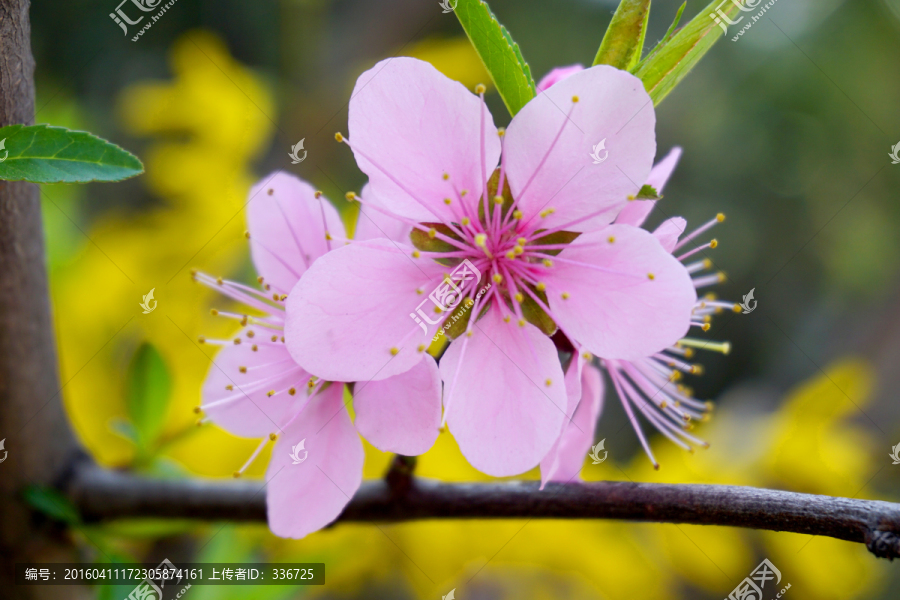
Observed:
[[[427,63],[377,64],[357,81],[345,141],[369,177],[366,207],[413,228],[417,247],[377,238],[317,260],[287,298],[291,356],[333,381],[430,360],[431,332],[410,315],[468,261],[480,276],[460,292],[474,317],[441,359],[444,420],[479,470],[536,466],[569,415],[551,335],[579,355],[637,360],[690,326],[685,267],[651,233],[611,224],[648,180],[654,125],[641,82],[607,66],[549,87],[504,132],[483,98]]]

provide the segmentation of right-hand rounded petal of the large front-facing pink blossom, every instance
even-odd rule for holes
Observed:
[[[697,300],[684,265],[630,225],[580,236],[559,254],[546,285],[557,323],[603,358],[633,360],[670,346],[687,333]]]

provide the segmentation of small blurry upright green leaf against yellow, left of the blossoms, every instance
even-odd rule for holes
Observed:
[[[128,414],[137,433],[138,446],[150,450],[159,437],[169,404],[171,379],[159,352],[141,344],[128,368]]]

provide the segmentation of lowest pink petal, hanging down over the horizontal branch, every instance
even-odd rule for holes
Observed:
[[[365,454],[343,405],[343,384],[313,396],[275,443],[266,472],[269,528],[302,538],[334,521],[362,482]],[[299,464],[291,458],[292,448]],[[307,453],[307,454],[304,454]]]

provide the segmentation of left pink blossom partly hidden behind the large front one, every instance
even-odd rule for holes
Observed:
[[[223,346],[203,385],[201,409],[235,435],[263,438],[236,476],[277,439],[266,473],[269,526],[277,535],[300,538],[333,521],[359,488],[359,435],[405,455],[431,447],[441,418],[440,374],[429,356],[404,373],[356,383],[351,422],[342,380],[322,379],[294,361],[283,331],[291,289],[339,243],[334,240],[345,237],[340,216],[321,192],[280,172],[251,190],[247,210],[262,291],[201,273],[195,278],[262,314],[213,311],[242,329],[233,340],[201,338]],[[365,208],[360,215],[357,239],[374,232],[407,235],[402,224],[389,229],[380,215],[368,213]]]

